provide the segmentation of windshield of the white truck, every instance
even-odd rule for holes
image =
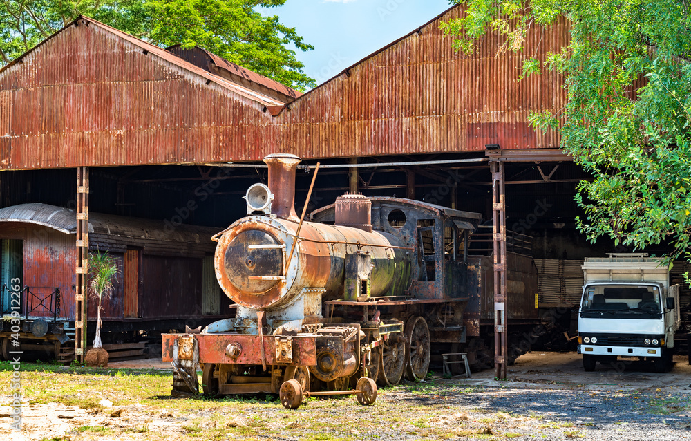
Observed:
[[[660,291],[650,285],[590,285],[583,296],[583,311],[609,311],[612,315],[659,314]]]

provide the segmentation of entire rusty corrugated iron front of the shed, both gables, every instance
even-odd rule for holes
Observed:
[[[569,40],[565,21],[455,53],[449,9],[278,111],[282,102],[80,18],[0,71],[0,169],[305,159],[558,147],[527,123],[565,102],[562,77],[517,82],[527,57]],[[79,25],[79,26],[77,26]],[[24,118],[32,115],[33,118]],[[276,116],[274,116],[276,115]]]

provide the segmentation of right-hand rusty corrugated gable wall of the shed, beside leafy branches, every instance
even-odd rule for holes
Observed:
[[[377,156],[558,147],[558,135],[537,133],[527,124],[533,111],[560,109],[562,77],[533,75],[521,82],[522,62],[544,61],[569,41],[565,21],[532,28],[520,53],[505,50],[505,39],[490,34],[475,53],[451,48],[441,20],[458,17],[451,8],[441,18],[400,39],[303,95],[277,118],[282,147],[303,158]]]

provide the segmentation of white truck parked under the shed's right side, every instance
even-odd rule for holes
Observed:
[[[657,372],[672,367],[674,332],[681,323],[679,285],[670,286],[661,259],[647,254],[587,258],[578,312],[578,353],[583,368],[617,357],[653,362]]]

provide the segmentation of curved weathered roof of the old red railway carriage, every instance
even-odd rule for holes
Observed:
[[[31,223],[56,229],[65,234],[77,232],[75,210],[48,204],[20,204],[0,209],[0,223]],[[205,243],[214,248],[211,236],[217,228],[196,225],[173,225],[170,221],[115,216],[114,214],[90,213],[90,234],[102,234],[111,238],[130,238],[141,241],[166,241],[173,243]]]

